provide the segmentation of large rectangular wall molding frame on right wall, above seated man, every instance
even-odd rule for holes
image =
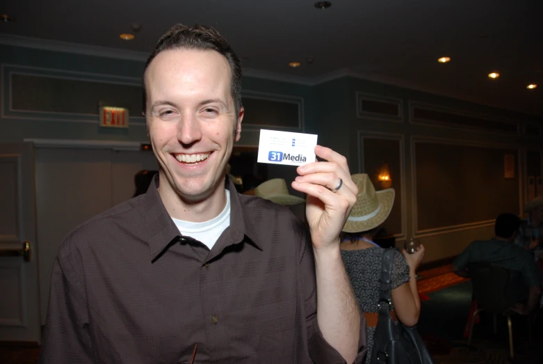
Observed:
[[[492,142],[478,142],[478,141],[467,141],[460,139],[446,139],[438,138],[433,136],[410,136],[410,173],[411,173],[411,184],[412,184],[412,194],[411,194],[411,207],[412,207],[412,232],[414,237],[430,237],[434,235],[447,234],[449,232],[457,232],[462,230],[473,230],[477,228],[483,228],[489,225],[492,225],[495,219],[484,220],[484,221],[474,221],[471,223],[463,223],[460,225],[448,225],[441,226],[439,228],[431,228],[425,230],[418,230],[418,206],[416,203],[416,143],[435,143],[442,145],[460,145],[460,146],[470,146],[470,147],[479,147],[479,148],[495,148],[495,149],[511,149],[517,152],[517,166],[516,173],[519,176],[519,214],[522,211],[523,206],[523,194],[524,194],[524,176],[523,176],[523,166],[522,166],[522,148],[519,145],[514,143],[492,143]]]

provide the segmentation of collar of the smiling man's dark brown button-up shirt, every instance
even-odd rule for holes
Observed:
[[[241,243],[246,236],[259,250],[262,250],[258,242],[257,230],[254,228],[252,219],[250,219],[250,213],[243,208],[241,195],[237,193],[236,186],[231,178],[227,178],[226,185],[230,191],[230,225],[220,238],[220,240],[224,241],[221,244],[223,245],[222,248]],[[157,174],[143,199],[143,214],[147,226],[149,254],[152,260],[159,258],[166,248],[178,242],[181,237],[179,229],[164,207],[158,187],[159,175]]]

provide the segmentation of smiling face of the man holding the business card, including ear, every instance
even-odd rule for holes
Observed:
[[[161,166],[161,193],[201,201],[224,188],[241,133],[227,59],[212,50],[161,52],[145,72],[149,139]]]

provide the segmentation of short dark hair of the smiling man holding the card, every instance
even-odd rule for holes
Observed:
[[[175,24],[166,32],[159,42],[156,43],[154,51],[147,58],[145,68],[143,69],[142,93],[143,93],[143,112],[147,109],[147,91],[145,90],[145,71],[154,57],[160,52],[169,49],[200,49],[212,50],[225,56],[231,71],[232,99],[236,116],[241,108],[241,61],[234,53],[234,50],[225,38],[220,35],[212,26],[196,24],[195,26],[186,26],[184,24]]]

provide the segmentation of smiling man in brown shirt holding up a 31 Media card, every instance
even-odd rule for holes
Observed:
[[[339,250],[357,195],[346,159],[317,146],[326,161],[298,167],[309,230],[238,194],[241,64],[208,26],[161,38],[143,99],[159,176],[61,244],[40,363],[362,363]]]

